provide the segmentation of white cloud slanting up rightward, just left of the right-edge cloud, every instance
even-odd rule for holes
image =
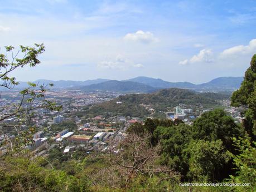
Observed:
[[[210,49],[203,49],[197,55],[194,55],[190,59],[180,61],[180,65],[188,65],[190,63],[199,63],[199,62],[212,62],[212,51]]]

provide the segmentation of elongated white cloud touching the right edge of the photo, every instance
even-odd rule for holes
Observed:
[[[248,45],[239,45],[228,48],[220,53],[221,57],[234,56],[239,54],[250,54],[256,51],[256,39],[249,42]]]

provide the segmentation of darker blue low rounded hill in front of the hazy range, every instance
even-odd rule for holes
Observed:
[[[143,83],[132,82],[132,81],[105,81],[102,83],[96,83],[93,85],[80,87],[83,91],[113,91],[113,92],[152,92],[156,88],[145,85]]]

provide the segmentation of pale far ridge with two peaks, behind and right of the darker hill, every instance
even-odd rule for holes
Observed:
[[[243,77],[219,77],[207,83],[199,85],[190,82],[168,82],[161,78],[136,77],[127,81],[144,83],[146,85],[157,88],[190,88],[192,90],[235,90],[240,87]]]

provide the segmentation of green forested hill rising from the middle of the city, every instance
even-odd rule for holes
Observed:
[[[166,111],[167,107],[174,107],[181,103],[217,105],[216,99],[228,97],[228,95],[221,95],[219,93],[206,94],[180,88],[169,88],[147,94],[119,96],[117,99],[92,106],[86,113],[103,115],[107,112],[112,112],[113,114],[123,114],[126,116],[145,117],[149,115],[149,111],[141,104],[152,105],[153,109]],[[117,101],[122,102],[122,104],[117,104]]]

